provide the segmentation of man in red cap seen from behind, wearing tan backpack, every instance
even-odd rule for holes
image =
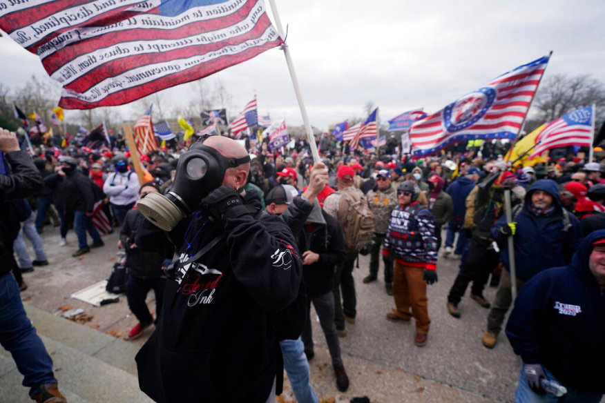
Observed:
[[[358,248],[355,243],[354,234],[359,233],[360,228],[355,228],[357,222],[356,212],[365,208],[364,213],[369,213],[372,219],[374,215],[367,206],[367,199],[361,190],[354,187],[355,171],[351,166],[343,165],[336,172],[336,187],[338,191],[332,193],[325,199],[323,206],[326,213],[335,217],[340,226],[343,227],[345,235],[346,254],[341,264],[336,266],[334,278],[334,323],[340,337],[345,337],[345,318],[350,324],[355,323],[357,300],[355,297],[355,282],[353,279],[353,267],[357,258]],[[354,209],[357,207],[358,209]],[[374,233],[372,225],[372,233]],[[371,234],[368,234],[371,236]],[[342,291],[342,302],[340,292]]]

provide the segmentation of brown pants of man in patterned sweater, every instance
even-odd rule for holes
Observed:
[[[393,270],[393,297],[396,306],[394,311],[403,319],[414,317],[416,320],[416,331],[419,333],[428,333],[431,320],[428,316],[424,270],[395,262]]]

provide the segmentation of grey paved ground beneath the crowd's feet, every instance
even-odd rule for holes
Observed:
[[[92,318],[83,326],[115,337],[124,337],[136,323],[128,311],[126,298],[100,308],[71,299],[69,295],[111,273],[117,248],[117,234],[104,237],[106,246],[84,257],[73,258],[75,234],[68,234],[68,246],[59,247],[57,228],[46,227],[42,235],[50,265],[24,275],[30,288],[23,292],[28,304],[50,313],[60,309],[84,308]],[[361,257],[354,271],[358,293],[356,324],[347,325],[347,337],[340,339],[343,358],[352,386],[339,394],[329,355],[318,323],[314,321],[316,357],[311,360],[311,383],[323,402],[348,402],[352,397],[368,396],[372,402],[488,402],[512,401],[518,362],[501,335],[493,350],[481,346],[481,335],[488,311],[464,298],[463,314],[456,320],[445,311],[445,299],[457,273],[457,261],[440,259],[439,282],[429,287],[429,313],[432,319],[428,345],[413,344],[414,325],[387,322],[385,313],[393,305],[384,292],[382,275],[378,282],[362,284],[367,274],[367,257]],[[492,299],[495,290],[488,288]],[[153,310],[153,293],[148,298]],[[311,313],[314,315],[314,313]],[[139,340],[142,345],[151,329]],[[280,401],[293,399],[289,386]]]

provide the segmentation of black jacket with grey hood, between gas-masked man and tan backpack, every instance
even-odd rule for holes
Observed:
[[[334,266],[345,259],[345,238],[338,220],[321,210],[326,225],[306,224],[307,250],[319,254],[314,264],[302,266],[302,279],[309,297],[317,297],[334,288]]]

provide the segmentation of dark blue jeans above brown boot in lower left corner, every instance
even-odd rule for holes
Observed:
[[[0,344],[15,360],[30,396],[40,385],[57,383],[50,355],[23,309],[12,273],[0,277]]]

